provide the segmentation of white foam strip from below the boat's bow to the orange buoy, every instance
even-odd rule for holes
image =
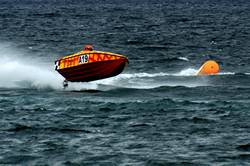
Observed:
[[[200,84],[180,81],[183,77],[195,76],[196,72],[195,69],[185,69],[177,73],[126,73],[94,83],[136,89],[152,89],[161,86],[204,86],[204,82]]]

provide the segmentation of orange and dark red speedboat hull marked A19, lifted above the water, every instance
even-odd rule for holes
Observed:
[[[56,70],[71,82],[89,82],[120,74],[128,59],[119,54],[79,52],[56,61]]]

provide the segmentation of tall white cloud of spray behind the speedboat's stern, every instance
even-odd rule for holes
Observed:
[[[38,60],[28,59],[9,44],[0,46],[0,87],[53,88],[62,85],[63,78],[53,69],[53,63],[41,66]]]

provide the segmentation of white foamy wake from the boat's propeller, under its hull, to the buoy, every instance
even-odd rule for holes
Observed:
[[[153,89],[161,86],[205,86],[207,84],[195,79],[197,70],[186,69],[178,73],[123,73],[115,77],[93,81],[89,83],[70,83],[67,90],[96,89],[101,91],[114,88]],[[195,79],[187,82],[186,78]]]

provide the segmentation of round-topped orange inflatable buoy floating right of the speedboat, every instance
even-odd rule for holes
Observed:
[[[220,67],[217,62],[213,60],[206,61],[198,70],[197,75],[210,75],[217,74],[220,70]]]

